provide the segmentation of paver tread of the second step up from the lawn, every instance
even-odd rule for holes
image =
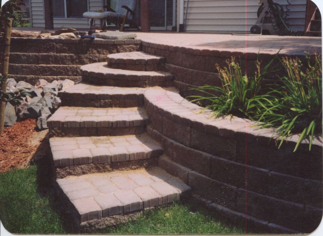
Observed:
[[[54,166],[129,161],[158,157],[161,146],[147,134],[49,139]]]

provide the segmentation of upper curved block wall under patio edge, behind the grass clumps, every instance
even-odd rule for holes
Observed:
[[[257,54],[252,52],[221,51],[221,49],[193,49],[145,41],[142,42],[142,50],[149,54],[165,57],[167,63],[165,65],[165,70],[174,74],[174,86],[180,90],[183,97],[201,95],[201,93],[197,91],[189,90],[191,87],[196,88],[197,86],[205,84],[219,86],[221,83],[215,64],[218,64],[220,67],[227,66],[226,60],[231,57],[234,57],[239,61],[241,68],[247,68],[248,76],[254,76],[256,71],[255,61],[257,58],[261,62],[261,65],[265,66],[271,59],[276,57],[276,54],[270,53]],[[234,50],[234,48],[232,50]],[[277,56],[279,59],[282,59],[283,57],[298,58],[303,62],[305,71],[305,66],[307,65],[307,58],[305,55],[288,55],[280,53]],[[315,60],[314,55],[311,55],[310,60]],[[264,80],[265,83],[273,83],[275,80],[273,81],[272,77],[275,77],[275,74],[281,76],[286,74],[284,67],[280,64],[278,59],[276,59],[274,64],[276,66],[275,73],[268,75],[268,79],[270,78],[270,80]]]

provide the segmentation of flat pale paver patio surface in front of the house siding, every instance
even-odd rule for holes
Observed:
[[[200,33],[142,33],[137,39],[144,42],[165,44],[196,49],[219,49],[222,51],[254,52],[303,55],[304,51],[322,52],[321,37],[296,37],[276,35],[231,35]]]

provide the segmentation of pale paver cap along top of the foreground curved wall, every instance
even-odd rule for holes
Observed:
[[[213,111],[206,109],[201,111],[200,107],[183,98],[176,89],[173,88],[147,88],[144,92],[145,104],[154,106],[146,112],[150,114],[158,110],[158,113],[165,114],[165,117],[172,118],[176,123],[185,124],[185,126],[194,127],[209,134],[217,134],[222,137],[235,138],[237,133],[246,133],[254,137],[275,138],[274,129],[259,129],[256,122],[239,118],[236,116],[222,116],[214,118]],[[148,105],[148,104],[147,104]],[[149,106],[148,105],[148,106]],[[177,106],[174,108],[173,106]],[[212,116],[212,117],[211,117]],[[286,141],[297,143],[298,134],[289,136]],[[300,144],[309,144],[305,139]],[[321,136],[313,139],[312,145],[323,147],[323,138]]]

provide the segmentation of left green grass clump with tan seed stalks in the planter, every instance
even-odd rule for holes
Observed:
[[[227,67],[220,68],[216,64],[222,86],[204,85],[191,90],[199,91],[205,96],[192,95],[188,99],[191,102],[203,102],[207,105],[202,109],[214,111],[214,116],[231,114],[240,117],[248,117],[253,120],[254,107],[249,100],[259,94],[260,84],[263,78],[271,72],[269,70],[273,60],[263,69],[260,69],[260,62],[256,61],[256,71],[253,77],[248,77],[241,71],[240,65],[234,58],[227,60]],[[201,112],[202,112],[201,111]]]

